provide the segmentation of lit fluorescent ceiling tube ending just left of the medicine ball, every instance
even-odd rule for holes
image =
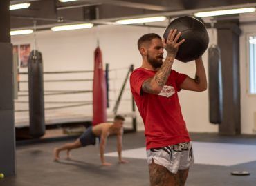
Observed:
[[[159,17],[145,17],[145,18],[138,18],[138,19],[123,19],[118,20],[115,23],[120,25],[129,25],[129,24],[138,24],[138,23],[149,23],[149,22],[156,22],[156,21],[165,21],[166,17],[159,16]]]

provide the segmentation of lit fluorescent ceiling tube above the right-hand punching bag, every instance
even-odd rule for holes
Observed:
[[[236,8],[229,10],[217,10],[210,12],[197,12],[194,14],[196,17],[210,17],[210,16],[220,16],[220,15],[228,15],[228,14],[242,14],[248,12],[255,12],[256,8]]]

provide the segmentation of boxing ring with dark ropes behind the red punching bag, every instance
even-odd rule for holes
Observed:
[[[134,99],[129,91],[129,74],[133,65],[109,69],[104,74],[107,83],[107,121],[115,114],[126,117],[125,130],[136,131]],[[93,70],[43,72],[44,118],[47,129],[87,127],[93,118]],[[18,72],[18,96],[15,100],[15,128],[30,125],[28,72]],[[17,132],[19,134],[19,132]]]

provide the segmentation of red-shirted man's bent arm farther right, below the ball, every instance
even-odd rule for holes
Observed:
[[[192,90],[192,91],[204,91],[207,89],[207,80],[205,74],[205,68],[203,66],[203,60],[201,57],[196,59],[196,75],[192,79],[187,77],[183,83],[181,83],[181,89]]]

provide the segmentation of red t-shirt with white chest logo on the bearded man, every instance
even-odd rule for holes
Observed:
[[[172,70],[161,93],[143,92],[143,82],[155,74],[156,71],[137,68],[130,76],[131,92],[145,125],[147,149],[190,141],[177,94],[187,75]]]

